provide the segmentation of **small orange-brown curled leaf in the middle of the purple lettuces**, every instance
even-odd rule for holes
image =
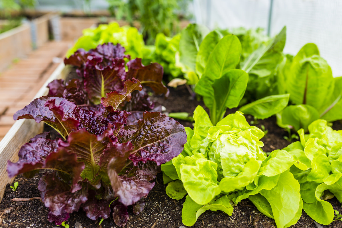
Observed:
[[[117,110],[117,108],[122,104],[122,102],[124,102],[125,100],[131,100],[131,93],[136,90],[142,90],[140,81],[136,80],[135,78],[132,78],[132,80],[126,80],[124,82],[123,89],[119,93],[116,91],[107,93],[107,97],[103,97],[101,99],[101,103],[105,107],[111,106],[114,110]]]

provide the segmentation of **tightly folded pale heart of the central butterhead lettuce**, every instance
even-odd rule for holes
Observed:
[[[261,162],[266,158],[260,148],[264,146],[260,141],[263,136],[264,132],[255,126],[250,126],[239,111],[228,115],[216,126],[212,126],[207,136],[212,140],[211,145],[208,146],[208,159],[218,164],[219,180],[241,175],[246,164],[254,166],[256,170],[253,173],[256,175]],[[254,162],[250,162],[251,159]],[[254,177],[251,181],[253,179]]]

